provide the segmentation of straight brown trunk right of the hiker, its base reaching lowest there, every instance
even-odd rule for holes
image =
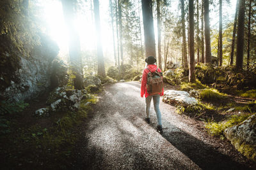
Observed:
[[[194,0],[189,0],[189,82],[195,82]]]

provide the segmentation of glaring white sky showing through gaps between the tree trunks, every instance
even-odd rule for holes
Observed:
[[[84,2],[84,1],[83,1]],[[76,27],[79,32],[81,41],[81,50],[95,50],[96,48],[96,36],[94,23],[92,22],[92,12],[90,7],[90,2],[87,1],[83,6],[84,13],[77,14]],[[177,10],[178,0],[172,1],[173,11]],[[99,0],[100,3],[100,22],[102,31],[102,46],[104,56],[113,53],[113,38],[109,17],[109,5],[107,0]],[[45,21],[48,25],[48,32],[52,39],[54,39],[60,46],[60,55],[68,52],[68,36],[67,29],[65,28],[65,22],[63,18],[63,11],[61,6],[61,1],[44,1],[42,4],[45,7]],[[210,18],[211,27],[218,29],[219,11],[213,10],[213,6],[210,6]],[[218,7],[216,6],[216,9]],[[236,0],[230,0],[230,6],[223,6],[223,20],[233,20],[234,11],[236,9]],[[87,12],[89,11],[89,12]],[[141,17],[142,19],[142,17]],[[142,23],[142,22],[141,22]],[[156,24],[156,22],[155,22]],[[155,25],[155,29],[157,25]],[[156,31],[157,32],[157,31]],[[157,34],[156,34],[157,35]],[[156,38],[157,40],[157,38]],[[113,57],[113,55],[111,55]]]

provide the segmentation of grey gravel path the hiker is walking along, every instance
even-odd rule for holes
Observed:
[[[145,118],[145,97],[136,81],[106,85],[92,115],[80,127],[75,169],[247,169],[221,152],[221,144],[196,127],[194,120],[160,102],[163,134],[156,113]],[[232,150],[232,148],[231,148]]]

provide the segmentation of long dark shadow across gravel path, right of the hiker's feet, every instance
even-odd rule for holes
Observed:
[[[170,122],[164,123],[168,129],[162,134],[163,138],[202,169],[248,169],[248,167],[231,160],[227,155],[223,155],[212,146],[182,131]]]

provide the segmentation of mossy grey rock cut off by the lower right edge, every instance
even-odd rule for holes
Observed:
[[[225,129],[224,134],[239,152],[256,161],[256,114],[239,125]]]

